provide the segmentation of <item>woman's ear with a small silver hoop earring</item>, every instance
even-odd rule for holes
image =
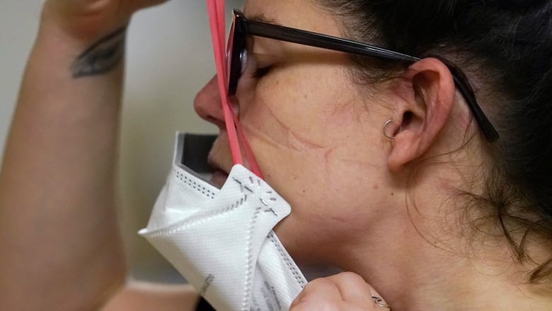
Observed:
[[[401,77],[403,104],[393,118],[397,134],[387,162],[391,171],[400,171],[430,149],[447,124],[456,94],[448,67],[435,58],[415,62]]]

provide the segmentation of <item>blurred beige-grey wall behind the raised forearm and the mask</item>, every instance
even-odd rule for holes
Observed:
[[[226,1],[227,11],[243,0]],[[0,147],[4,148],[18,85],[38,28],[42,0],[3,0],[0,11]],[[205,1],[172,0],[137,13],[127,44],[120,149],[120,207],[132,276],[180,281],[136,232],[171,164],[174,133],[216,132],[192,101],[214,74]],[[3,152],[2,152],[3,153]],[[1,154],[0,154],[1,160]]]

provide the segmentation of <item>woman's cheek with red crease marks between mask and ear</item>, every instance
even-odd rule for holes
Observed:
[[[381,166],[367,156],[379,144],[371,113],[343,69],[318,64],[270,78],[260,80],[240,112],[265,179],[292,205],[289,223],[304,230],[346,224],[365,204],[359,185]]]

